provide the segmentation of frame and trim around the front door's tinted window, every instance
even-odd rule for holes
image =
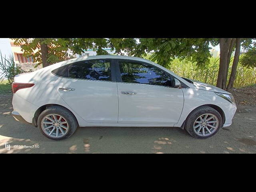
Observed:
[[[122,82],[122,78],[121,78],[121,72],[120,72],[120,66],[119,66],[119,62],[131,62],[131,63],[138,63],[138,64],[146,64],[146,65],[149,65],[149,66],[152,66],[152,67],[155,67],[157,68],[158,70],[168,74],[170,76],[170,78],[175,78],[174,76],[172,76],[170,73],[162,70],[161,68],[155,66],[155,65],[152,65],[150,63],[147,63],[147,62],[143,62],[143,61],[138,61],[138,60],[131,60],[131,59],[115,59],[116,62],[115,63],[115,66],[116,66],[116,79],[117,79],[117,82],[118,83],[128,83],[128,82]],[[128,83],[128,84],[136,84],[136,85],[147,85],[147,86],[160,86],[160,87],[168,87],[168,88],[174,88],[174,87],[170,87],[170,86],[163,86],[163,85],[150,85],[150,84],[142,84],[142,83]]]

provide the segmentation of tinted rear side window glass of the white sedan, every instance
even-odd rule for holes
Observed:
[[[76,62],[52,72],[68,78],[111,81],[110,61],[108,60]]]

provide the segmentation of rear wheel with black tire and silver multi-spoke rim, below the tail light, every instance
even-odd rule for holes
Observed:
[[[49,119],[46,117],[48,117]],[[55,121],[56,118],[57,120],[59,120],[60,123]],[[54,122],[56,122],[57,125],[54,122],[52,122],[50,119],[54,120]],[[64,122],[66,123],[64,124]],[[53,140],[61,140],[64,138],[69,138],[70,136],[72,136],[72,134],[74,134],[74,132],[76,131],[76,128],[78,127],[78,122],[74,114],[72,114],[69,110],[67,110],[62,106],[52,106],[44,110],[39,115],[37,124],[40,132],[44,136]],[[53,126],[53,127],[47,129],[48,126],[49,127]]]

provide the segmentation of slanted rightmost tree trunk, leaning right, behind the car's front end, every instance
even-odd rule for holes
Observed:
[[[236,79],[236,69],[238,66],[239,55],[240,55],[240,47],[241,47],[241,38],[236,38],[236,51],[235,51],[230,78],[228,81],[227,91],[231,91],[232,88],[234,87],[234,81]]]

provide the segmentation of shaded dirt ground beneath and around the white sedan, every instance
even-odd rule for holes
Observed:
[[[15,121],[12,94],[0,94],[0,153],[256,153],[256,87],[233,94],[233,124],[211,138],[195,139],[180,128],[84,127],[61,141]]]

